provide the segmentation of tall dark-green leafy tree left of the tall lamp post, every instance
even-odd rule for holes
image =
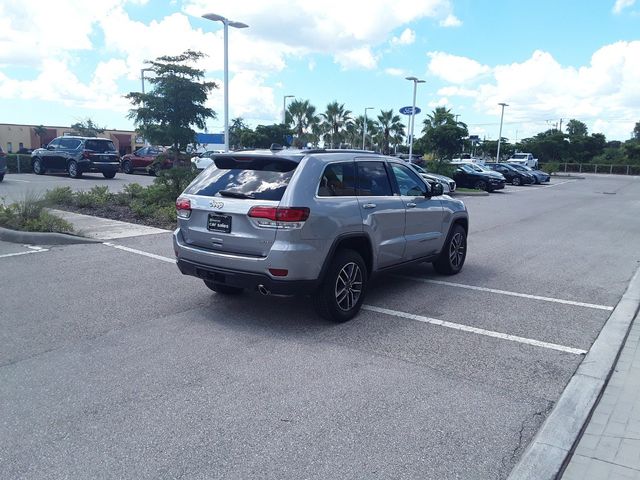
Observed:
[[[218,86],[203,81],[204,70],[190,66],[204,56],[187,50],[177,56],[148,61],[155,74],[149,78],[153,90],[126,95],[135,107],[129,110],[129,118],[151,143],[172,146],[174,164],[178,152],[195,142],[196,132],[192,126],[204,129],[208,118],[216,118],[215,112],[205,107],[205,102],[208,93]]]

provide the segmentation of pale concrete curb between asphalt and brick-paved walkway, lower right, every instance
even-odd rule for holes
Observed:
[[[640,268],[508,480],[554,480],[596,407],[640,306]]]

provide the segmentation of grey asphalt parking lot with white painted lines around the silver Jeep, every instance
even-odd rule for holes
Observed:
[[[378,277],[340,325],[304,298],[213,294],[168,233],[0,242],[0,470],[506,478],[639,265],[640,177],[465,202],[459,275]]]

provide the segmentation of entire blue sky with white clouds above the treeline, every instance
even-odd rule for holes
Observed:
[[[283,95],[397,111],[411,104],[408,75],[426,81],[416,127],[446,106],[495,139],[499,102],[511,141],[571,118],[625,140],[640,121],[636,0],[3,0],[0,123],[133,128],[123,95],[140,89],[144,60],[187,48],[209,55],[200,66],[222,86],[222,29],[207,12],[249,24],[230,29],[229,86],[230,116],[252,126],[279,121]],[[219,132],[222,89],[209,104]]]

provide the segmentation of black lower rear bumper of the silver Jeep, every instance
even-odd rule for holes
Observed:
[[[275,295],[305,295],[318,288],[318,282],[315,280],[274,280],[260,273],[212,267],[184,259],[178,259],[176,263],[183,275],[254,291],[262,285]]]

